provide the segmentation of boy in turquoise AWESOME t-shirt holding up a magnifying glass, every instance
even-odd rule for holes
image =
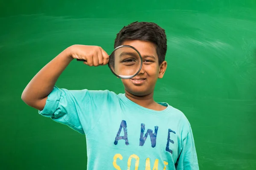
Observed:
[[[73,59],[84,59],[89,66],[108,63],[101,47],[72,45],[35,75],[22,100],[86,136],[88,170],[198,170],[189,121],[168,103],[153,99],[157,79],[167,67],[164,29],[155,23],[131,23],[117,34],[114,48],[119,45],[131,45],[143,57],[140,73],[122,79],[125,94],[56,87]]]

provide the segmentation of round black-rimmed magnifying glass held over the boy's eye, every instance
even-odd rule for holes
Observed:
[[[85,61],[84,59],[76,60]],[[110,54],[108,67],[116,77],[131,79],[139,74],[142,68],[142,57],[133,46],[120,45]]]

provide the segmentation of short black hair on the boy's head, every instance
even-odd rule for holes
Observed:
[[[159,65],[165,60],[167,51],[166,33],[163,28],[151,22],[133,22],[124,26],[116,34],[114,48],[122,45],[126,40],[143,40],[154,43]]]

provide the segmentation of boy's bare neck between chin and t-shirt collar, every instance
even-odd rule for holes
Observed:
[[[132,102],[143,106],[145,108],[151,108],[152,105],[155,105],[156,102],[153,99],[154,93],[152,92],[151,94],[145,95],[145,96],[136,96],[134,94],[129,93],[128,91],[125,90],[125,96],[130,99]]]

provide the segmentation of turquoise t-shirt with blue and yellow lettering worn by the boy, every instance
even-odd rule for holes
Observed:
[[[85,134],[87,170],[198,170],[189,121],[160,104],[167,108],[144,108],[108,90],[55,86],[39,113]]]

